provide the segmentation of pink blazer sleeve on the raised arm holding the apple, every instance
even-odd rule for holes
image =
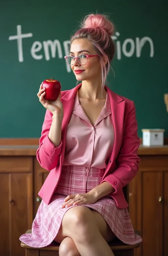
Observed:
[[[54,169],[58,165],[62,147],[62,140],[60,145],[55,147],[48,137],[52,121],[52,113],[49,110],[46,110],[39,147],[36,152],[36,158],[39,164],[48,171]]]

